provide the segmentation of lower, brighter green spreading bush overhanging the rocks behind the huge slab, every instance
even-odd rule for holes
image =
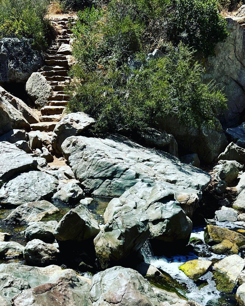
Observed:
[[[71,112],[84,111],[97,120],[97,134],[108,131],[135,133],[154,126],[158,118],[177,116],[187,125],[213,124],[217,108],[225,108],[220,91],[202,83],[203,68],[192,60],[189,48],[165,46],[165,55],[146,60],[133,73],[111,64],[86,73],[76,67],[68,88]]]

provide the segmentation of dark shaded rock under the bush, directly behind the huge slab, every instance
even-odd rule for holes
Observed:
[[[163,130],[148,129],[141,134],[144,143],[149,147],[162,147],[163,151],[178,157],[178,144],[174,136]]]

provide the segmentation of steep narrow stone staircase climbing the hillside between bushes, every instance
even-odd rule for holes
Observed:
[[[51,19],[54,27],[58,29],[56,41],[46,51],[44,58],[45,66],[40,72],[53,89],[53,95],[48,97],[47,105],[41,108],[40,122],[31,124],[33,131],[52,132],[58,121],[61,120],[62,112],[67,104],[67,96],[64,93],[65,84],[70,82],[68,76],[71,57],[71,30],[69,23],[73,23],[76,16],[54,17]]]

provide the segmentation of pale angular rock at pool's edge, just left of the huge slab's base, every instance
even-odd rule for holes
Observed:
[[[53,199],[59,199],[66,203],[77,203],[84,198],[81,183],[77,180],[60,182],[58,191],[54,194]]]

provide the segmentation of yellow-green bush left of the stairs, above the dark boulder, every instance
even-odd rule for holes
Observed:
[[[0,37],[30,38],[33,44],[47,44],[47,0],[0,0]]]

